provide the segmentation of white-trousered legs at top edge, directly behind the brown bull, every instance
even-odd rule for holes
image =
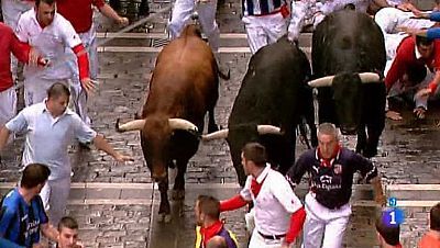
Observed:
[[[194,0],[176,0],[173,7],[172,20],[168,23],[170,38],[180,36],[182,31],[190,21],[196,3]],[[220,30],[216,22],[217,0],[197,4],[199,22],[209,46],[213,53],[218,53],[220,46]]]

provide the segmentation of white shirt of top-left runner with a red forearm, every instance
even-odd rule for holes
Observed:
[[[72,70],[67,63],[57,63],[57,60],[65,60],[65,48],[74,48],[81,44],[81,40],[70,22],[63,15],[55,13],[53,22],[42,29],[33,8],[20,16],[15,33],[21,42],[35,47],[44,58],[48,58],[51,64],[54,65],[45,69],[44,72],[41,72],[42,68],[25,66],[24,76],[26,78],[38,71],[37,77],[43,79],[68,79],[72,77]]]

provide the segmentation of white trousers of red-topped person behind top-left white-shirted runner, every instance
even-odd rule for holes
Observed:
[[[79,37],[81,38],[82,45],[87,49],[87,55],[89,57],[89,69],[90,69],[90,79],[98,79],[98,50],[97,50],[97,40],[96,40],[96,30],[95,25],[88,32],[80,33]],[[87,93],[82,89],[81,83],[79,81],[79,70],[78,70],[78,61],[70,48],[66,48],[66,54],[69,56],[69,67],[73,71],[72,84],[75,92],[73,92],[73,99],[78,104],[75,104],[75,112],[81,117],[81,120],[90,125],[90,119],[87,114]]]

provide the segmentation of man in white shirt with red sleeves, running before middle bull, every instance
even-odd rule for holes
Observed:
[[[220,211],[231,211],[254,203],[255,228],[250,248],[289,247],[299,235],[306,218],[305,208],[286,178],[266,164],[266,151],[258,143],[242,149],[242,165],[248,180],[237,196],[222,201]]]

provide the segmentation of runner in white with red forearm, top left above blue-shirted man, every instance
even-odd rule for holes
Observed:
[[[42,102],[46,90],[54,82],[68,84],[72,70],[64,60],[65,47],[70,47],[77,56],[79,77],[82,88],[91,93],[95,90],[89,78],[89,61],[87,53],[78,34],[72,24],[55,12],[55,0],[36,0],[35,8],[23,13],[16,27],[16,36],[23,43],[29,43],[52,66],[41,69],[32,66],[24,67],[24,98],[25,105]],[[72,86],[73,89],[77,87]],[[73,91],[73,101],[76,104],[77,91]]]

